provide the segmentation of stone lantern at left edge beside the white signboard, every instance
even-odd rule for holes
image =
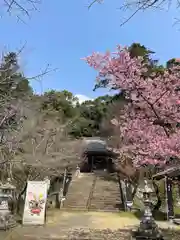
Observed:
[[[7,230],[16,226],[14,203],[16,201],[15,186],[7,182],[0,183],[0,229]]]

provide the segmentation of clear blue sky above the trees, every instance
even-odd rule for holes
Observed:
[[[3,14],[0,19],[0,50],[14,51],[25,42],[21,55],[22,70],[29,77],[39,74],[50,64],[58,68],[42,80],[31,82],[36,92],[67,89],[74,94],[96,97],[105,90],[93,92],[96,72],[80,58],[93,51],[114,50],[117,44],[140,42],[156,51],[162,63],[180,57],[180,25],[174,26],[177,13],[146,11],[125,26],[121,21],[127,12],[118,10],[119,0],[105,0],[88,11],[88,0],[53,0],[44,2],[26,24]]]

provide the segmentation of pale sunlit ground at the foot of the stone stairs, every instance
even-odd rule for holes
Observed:
[[[168,222],[157,222],[161,228],[169,228]],[[139,219],[121,216],[121,213],[104,212],[50,212],[44,227],[17,227],[11,233],[0,232],[0,240],[57,239],[75,229],[126,229],[134,228]],[[175,226],[172,226],[175,228]],[[37,238],[38,236],[38,238]]]

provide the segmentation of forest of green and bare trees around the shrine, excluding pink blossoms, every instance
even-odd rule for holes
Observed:
[[[128,52],[132,59],[142,58],[147,67],[141,76],[144,79],[151,75],[161,76],[176,63],[171,59],[166,66],[160,65],[153,59],[154,52],[140,43],[133,43]],[[68,90],[52,89],[37,95],[20,70],[18,59],[18,53],[7,53],[0,66],[2,180],[13,178],[22,187],[27,178],[34,179],[43,171],[47,173],[49,166],[62,172],[80,157],[79,141],[84,137],[101,137],[112,149],[120,151],[123,136],[112,124],[112,119],[117,119],[128,105],[126,91],[111,85],[116,94],[81,104]],[[109,88],[109,79],[95,82],[94,91],[98,88]],[[137,171],[132,165],[126,167],[129,177]]]

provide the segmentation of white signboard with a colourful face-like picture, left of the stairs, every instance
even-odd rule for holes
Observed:
[[[24,225],[44,224],[47,188],[47,181],[28,181],[23,214]]]

